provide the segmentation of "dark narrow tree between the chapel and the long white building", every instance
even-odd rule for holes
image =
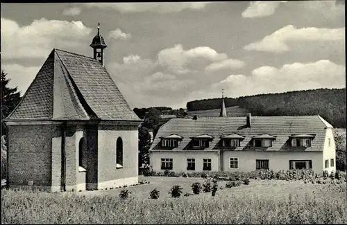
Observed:
[[[146,127],[139,127],[139,166],[149,165],[149,148],[151,147],[151,134]]]

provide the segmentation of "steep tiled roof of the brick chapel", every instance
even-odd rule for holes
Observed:
[[[53,49],[6,120],[140,121],[102,64]]]

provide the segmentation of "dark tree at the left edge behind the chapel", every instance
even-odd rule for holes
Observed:
[[[8,83],[10,79],[6,78],[7,73],[1,71],[1,123],[3,118],[6,118],[21,100],[20,92],[17,87],[10,88]],[[6,134],[6,126],[1,124],[1,134]]]

